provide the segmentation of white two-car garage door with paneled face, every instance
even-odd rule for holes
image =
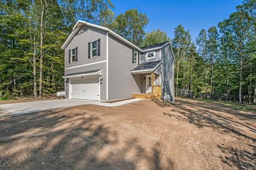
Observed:
[[[99,100],[99,78],[71,80],[71,98]]]

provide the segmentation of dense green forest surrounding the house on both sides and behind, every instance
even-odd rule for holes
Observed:
[[[182,25],[170,39],[145,32],[146,14],[115,15],[110,0],[3,0],[0,2],[0,99],[42,97],[63,90],[64,51],[77,20],[103,25],[141,47],[171,40],[175,95],[256,103],[255,0],[191,40]]]

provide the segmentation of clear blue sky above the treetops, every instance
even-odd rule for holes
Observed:
[[[209,29],[236,10],[242,0],[111,0],[115,5],[116,15],[124,13],[130,8],[138,8],[149,18],[146,32],[161,29],[173,38],[173,31],[182,24],[189,30],[193,41],[201,29]]]

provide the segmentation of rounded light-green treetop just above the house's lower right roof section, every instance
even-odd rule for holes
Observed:
[[[146,33],[146,37],[143,39],[143,46],[149,46],[157,43],[163,43],[165,41],[170,41],[165,31],[161,31],[159,28],[157,30],[152,30]]]

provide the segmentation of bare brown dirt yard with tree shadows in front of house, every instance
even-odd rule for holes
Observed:
[[[256,113],[195,100],[0,118],[0,169],[256,169]]]

